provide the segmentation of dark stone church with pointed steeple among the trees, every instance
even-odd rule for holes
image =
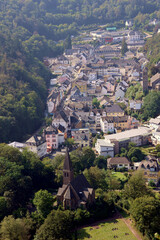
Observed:
[[[83,174],[74,178],[72,164],[66,148],[63,166],[63,186],[58,189],[57,202],[65,209],[87,208],[95,200],[94,189],[90,186]]]

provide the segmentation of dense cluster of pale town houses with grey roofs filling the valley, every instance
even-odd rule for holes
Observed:
[[[131,27],[132,21],[126,22],[126,26]],[[117,159],[115,155],[129,142],[137,146],[160,143],[160,118],[151,119],[142,127],[120,106],[123,103],[128,109],[140,111],[143,102],[127,99],[128,87],[140,83],[143,91],[149,88],[160,90],[160,74],[148,82],[148,60],[137,51],[144,44],[145,36],[141,32],[97,30],[90,35],[99,41],[98,46],[76,44],[57,58],[44,59],[53,74],[47,98],[47,114],[52,118],[52,124],[25,144],[14,142],[11,145],[19,149],[26,146],[42,158],[63,146],[67,138],[73,138],[77,146],[92,146],[92,137],[102,132],[104,139],[97,139],[96,154],[109,155],[109,167],[116,165],[129,169],[128,160]],[[123,38],[129,50],[122,57]],[[94,104],[95,98],[98,105]],[[141,167],[155,167],[158,171],[155,159],[145,161],[150,161],[149,165],[143,162]]]

